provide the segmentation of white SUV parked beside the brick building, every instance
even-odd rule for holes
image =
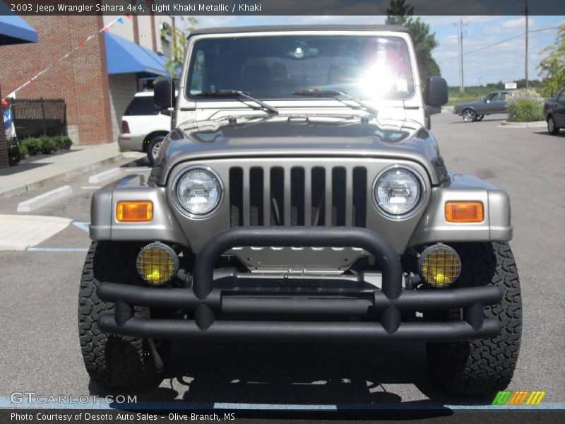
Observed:
[[[121,118],[120,148],[147,153],[151,165],[171,128],[171,117],[153,104],[153,90],[133,96]]]

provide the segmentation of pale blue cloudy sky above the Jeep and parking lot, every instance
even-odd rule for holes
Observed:
[[[315,23],[379,24],[386,16],[196,16],[198,28],[242,25],[288,25]],[[421,16],[436,34],[439,47],[432,52],[449,86],[459,86],[460,65],[458,25],[463,20],[463,71],[465,86],[525,78],[524,16]],[[530,16],[528,73],[530,80],[539,77],[536,66],[543,58],[541,50],[554,45],[559,23],[565,16]],[[542,31],[539,31],[542,30]],[[494,43],[510,37],[513,40]],[[486,47],[486,48],[483,48]],[[475,49],[480,49],[473,52]]]

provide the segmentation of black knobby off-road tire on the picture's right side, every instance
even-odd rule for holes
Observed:
[[[454,285],[494,284],[504,290],[498,305],[484,307],[485,317],[499,319],[501,334],[453,343],[427,343],[430,375],[449,394],[492,394],[509,385],[520,350],[522,301],[516,262],[508,243],[453,245],[463,262]],[[460,318],[460,310],[451,312]]]

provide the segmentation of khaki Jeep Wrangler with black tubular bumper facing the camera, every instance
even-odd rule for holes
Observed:
[[[174,339],[422,341],[445,391],[504,389],[521,336],[509,196],[446,169],[427,125],[446,100],[403,28],[191,33],[179,87],[155,86],[175,129],[148,184],[93,196],[90,376],[159,384]]]

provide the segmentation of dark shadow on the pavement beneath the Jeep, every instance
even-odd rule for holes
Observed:
[[[437,389],[423,343],[174,343],[170,359],[167,379],[157,389],[139,392],[138,402],[203,410],[243,404],[250,411],[273,404],[292,411],[332,406],[369,415],[410,410],[422,418],[451,414],[445,404],[492,401],[446,396]],[[108,394],[93,382],[90,391]],[[411,400],[422,397],[428,399]]]

